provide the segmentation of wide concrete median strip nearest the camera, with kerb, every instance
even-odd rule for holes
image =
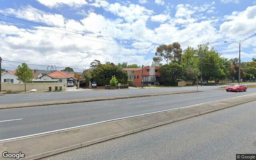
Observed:
[[[24,159],[35,160],[254,100],[256,93],[38,136],[4,140],[1,145],[9,153],[22,152],[26,155]]]

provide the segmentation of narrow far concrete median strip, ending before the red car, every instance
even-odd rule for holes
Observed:
[[[162,95],[168,95],[168,94],[184,94],[184,93],[194,93],[194,92],[203,92],[203,91],[163,92],[163,93],[136,94],[136,95],[127,95],[127,96],[109,96],[109,97],[98,97],[98,98],[81,98],[81,99],[72,99],[72,100],[53,100],[53,101],[42,101],[42,102],[0,104],[0,109],[33,107],[33,106],[47,106],[47,105],[54,105],[54,104],[94,102],[94,101],[102,101],[102,100],[117,100],[117,99],[126,99],[126,98],[162,96]]]

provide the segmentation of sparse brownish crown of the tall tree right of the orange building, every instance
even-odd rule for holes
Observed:
[[[161,62],[163,59],[166,61],[166,64],[169,62],[180,62],[182,49],[178,42],[169,45],[163,44],[156,48],[155,55],[157,58],[153,60],[157,60],[157,63]]]

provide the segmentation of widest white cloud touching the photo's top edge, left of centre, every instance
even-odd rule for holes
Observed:
[[[48,6],[49,8],[60,7],[62,5],[68,5],[70,7],[81,7],[88,4],[85,0],[37,0],[41,4]]]

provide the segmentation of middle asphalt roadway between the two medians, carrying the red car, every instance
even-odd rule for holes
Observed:
[[[212,89],[188,94],[4,109],[0,110],[1,139],[39,134],[255,92],[256,88],[239,93]]]

